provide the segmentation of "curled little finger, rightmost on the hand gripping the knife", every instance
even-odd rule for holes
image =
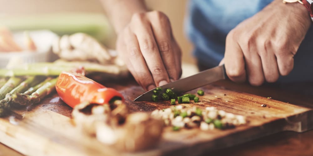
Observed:
[[[288,75],[292,71],[294,66],[293,54],[290,52],[287,54],[276,55],[276,57],[280,75]]]

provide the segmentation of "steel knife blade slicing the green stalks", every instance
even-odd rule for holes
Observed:
[[[208,85],[210,83],[213,83],[218,80],[226,79],[226,71],[225,66],[217,66],[202,72],[199,72],[195,75],[168,83],[166,85],[160,86],[163,90],[170,88],[174,93],[177,95],[184,93],[189,90],[193,90],[199,87],[202,87],[204,85]],[[154,88],[155,89],[155,88]],[[138,96],[134,101],[150,101],[151,96],[153,94],[153,90],[151,89],[147,91],[146,93],[143,93],[142,95]]]

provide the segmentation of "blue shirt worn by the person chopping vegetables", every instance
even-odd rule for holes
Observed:
[[[217,66],[224,57],[228,32],[272,1],[191,0],[185,29],[194,44],[194,56],[204,66]],[[294,57],[294,69],[288,76],[280,76],[278,81],[313,81],[313,27]]]

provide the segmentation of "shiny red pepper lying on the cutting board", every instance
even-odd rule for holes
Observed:
[[[120,92],[107,88],[80,73],[62,72],[55,88],[60,98],[72,108],[82,102],[104,105],[115,98],[124,101]]]

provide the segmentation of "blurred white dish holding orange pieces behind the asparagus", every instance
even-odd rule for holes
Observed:
[[[36,51],[18,51],[18,52],[0,52],[0,68],[7,66],[8,62],[11,60],[14,63],[23,64],[23,63],[34,63],[34,62],[49,62],[51,61],[51,46],[53,40],[58,38],[58,36],[49,31],[49,30],[38,30],[38,31],[29,31],[30,37],[33,39],[37,50]],[[13,33],[14,41],[22,47],[25,48],[25,37],[24,32]],[[19,60],[19,62],[16,62]]]

